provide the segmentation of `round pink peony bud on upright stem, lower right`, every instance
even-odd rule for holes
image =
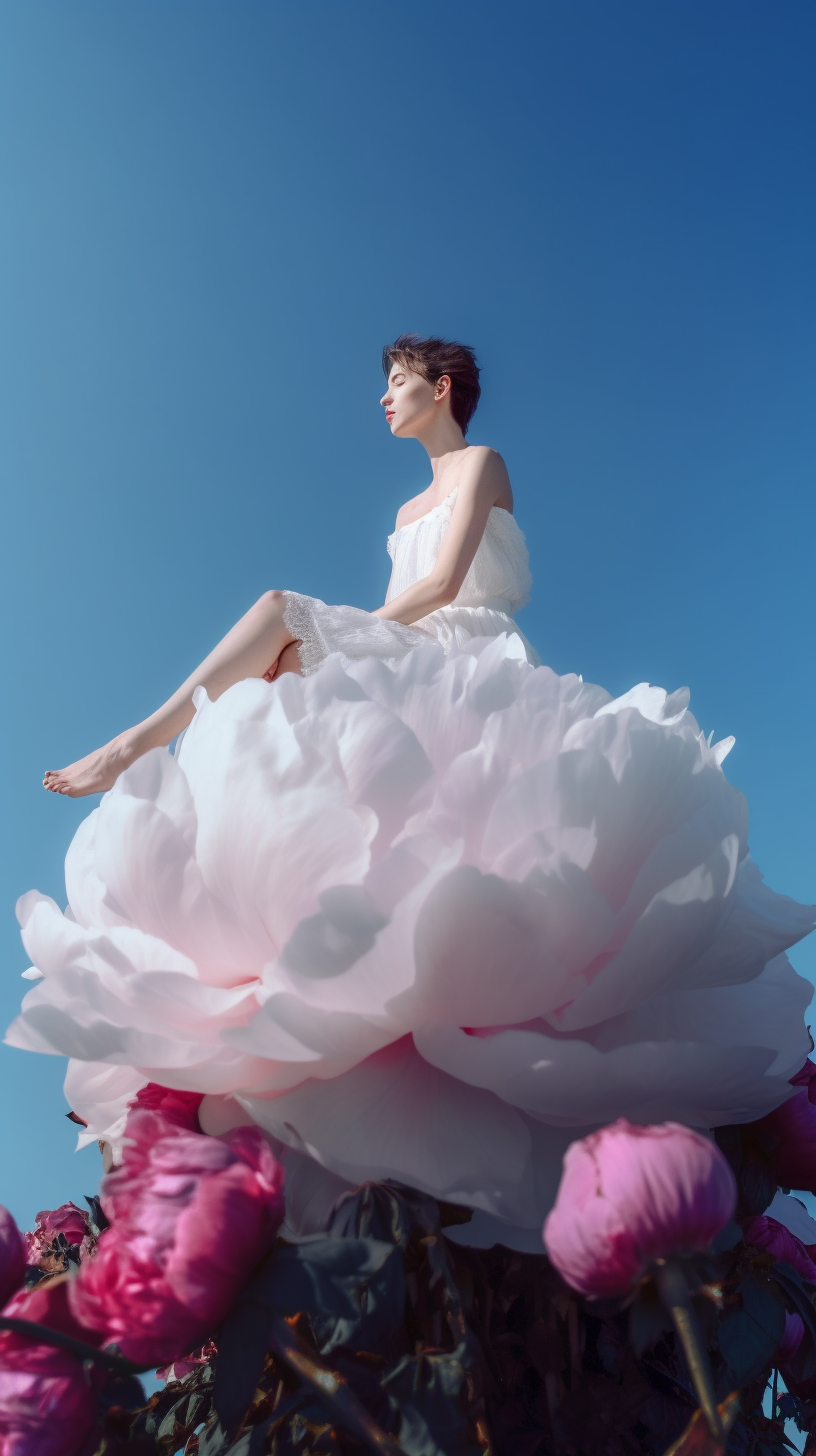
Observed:
[[[734,1204],[734,1175],[707,1137],[621,1118],[567,1149],[544,1242],[581,1294],[625,1294],[651,1259],[704,1249]]]

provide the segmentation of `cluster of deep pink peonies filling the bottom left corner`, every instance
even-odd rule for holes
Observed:
[[[146,1367],[181,1363],[214,1334],[275,1239],[283,1171],[256,1127],[204,1136],[200,1101],[154,1086],[138,1095],[122,1162],[102,1179],[109,1227],[95,1248],[74,1204],[39,1213],[25,1242],[0,1210],[3,1315],[115,1344]],[[26,1254],[48,1274],[58,1235],[86,1255],[76,1277],[20,1289]],[[79,1456],[105,1379],[67,1350],[0,1331],[0,1456]]]

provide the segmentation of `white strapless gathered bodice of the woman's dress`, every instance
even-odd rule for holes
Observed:
[[[455,498],[453,489],[425,515],[401,526],[388,537],[388,553],[393,568],[386,600],[396,597],[433,571],[442,539],[450,524]],[[494,505],[476,555],[452,606],[494,607],[511,614],[527,601],[530,585],[525,534],[510,511]]]

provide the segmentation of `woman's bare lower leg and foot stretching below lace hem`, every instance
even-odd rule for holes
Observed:
[[[264,593],[162,708],[86,759],[67,769],[50,769],[44,788],[70,798],[102,794],[143,753],[163,747],[187,728],[192,721],[192,693],[198,686],[216,699],[245,677],[267,677],[271,681],[270,674],[274,676],[278,658],[293,642],[291,632],[284,626],[284,591]],[[287,660],[286,671],[297,671],[294,658]]]

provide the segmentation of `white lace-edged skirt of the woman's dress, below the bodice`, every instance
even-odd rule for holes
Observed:
[[[332,652],[350,661],[377,657],[395,661],[405,657],[428,636],[439,642],[446,655],[466,649],[475,638],[497,638],[507,633],[510,657],[541,665],[538,652],[519,630],[509,612],[495,606],[450,606],[431,612],[414,626],[386,622],[360,607],[329,606],[319,597],[305,597],[287,591],[284,622],[300,644],[299,657],[303,677],[315,673]]]

